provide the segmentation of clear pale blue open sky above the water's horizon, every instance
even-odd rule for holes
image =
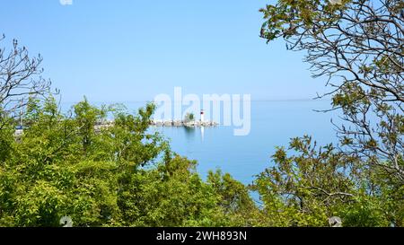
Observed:
[[[252,100],[324,91],[302,53],[259,38],[269,0],[1,0],[0,33],[44,57],[63,101],[151,101],[158,93],[250,93]]]

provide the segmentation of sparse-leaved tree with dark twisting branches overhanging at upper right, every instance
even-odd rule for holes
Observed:
[[[303,50],[325,77],[344,151],[404,182],[404,4],[399,0],[279,0],[261,12],[261,37]]]

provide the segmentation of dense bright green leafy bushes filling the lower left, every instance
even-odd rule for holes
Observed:
[[[58,226],[66,215],[75,226],[245,225],[232,221],[253,206],[246,188],[200,179],[196,162],[150,132],[153,112],[84,100],[65,116],[52,97],[29,101],[23,135],[1,130],[0,225]]]

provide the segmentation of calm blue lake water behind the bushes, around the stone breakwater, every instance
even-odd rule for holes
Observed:
[[[98,105],[99,103],[96,103]],[[100,103],[101,104],[101,103]],[[108,103],[107,103],[108,104]],[[145,102],[125,102],[129,112]],[[69,108],[71,104],[64,104]],[[330,123],[334,112],[330,101],[251,101],[251,130],[248,136],[233,136],[233,127],[153,127],[171,141],[171,149],[198,161],[198,172],[206,178],[210,170],[229,172],[234,179],[250,184],[254,176],[272,165],[276,146],[287,146],[295,136],[313,136],[319,144],[336,142]]]

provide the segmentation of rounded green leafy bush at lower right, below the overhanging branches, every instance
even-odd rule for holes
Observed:
[[[339,216],[344,226],[401,226],[402,187],[387,176],[363,167],[357,158],[332,145],[318,147],[312,138],[294,138],[288,156],[284,148],[273,155],[276,165],[254,181],[271,226],[328,226]],[[394,193],[394,194],[393,194]]]

